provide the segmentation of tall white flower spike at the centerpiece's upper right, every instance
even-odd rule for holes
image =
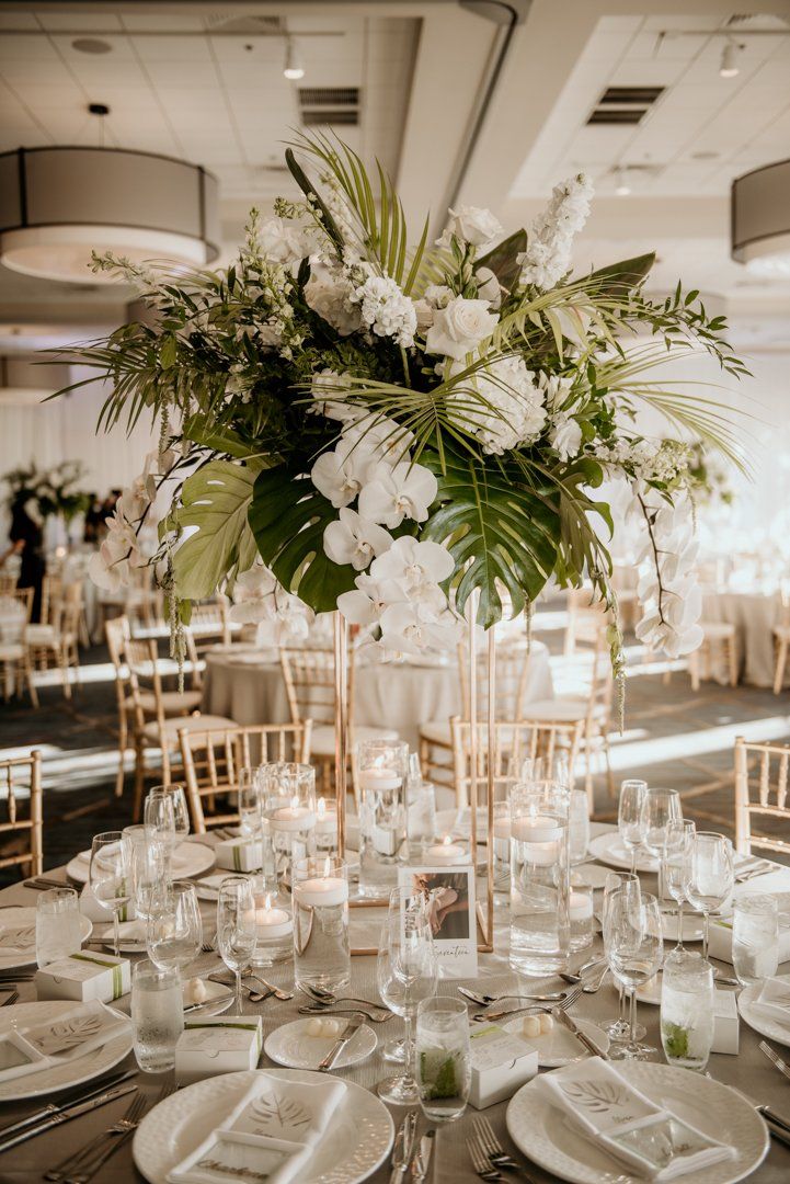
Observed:
[[[592,192],[584,173],[555,186],[551,201],[530,227],[526,251],[517,257],[523,285],[553,288],[570,269],[574,234],[588,219]]]

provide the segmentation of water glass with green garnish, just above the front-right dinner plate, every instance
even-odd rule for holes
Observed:
[[[661,976],[661,1044],[668,1064],[701,1073],[713,1045],[713,967],[691,950],[673,950]]]

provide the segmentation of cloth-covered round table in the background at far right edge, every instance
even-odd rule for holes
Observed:
[[[705,590],[702,620],[724,622],[736,626],[740,678],[752,687],[773,686],[773,625],[782,617],[778,592],[718,592]],[[717,682],[729,676],[720,659],[720,648],[713,651],[712,671]]]

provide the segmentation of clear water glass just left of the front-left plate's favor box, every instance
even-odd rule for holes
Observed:
[[[177,970],[149,961],[131,969],[131,1028],[135,1058],[143,1073],[175,1066],[175,1045],[183,1031],[183,996]]]

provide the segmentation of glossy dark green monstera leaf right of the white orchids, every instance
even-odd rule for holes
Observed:
[[[423,528],[422,538],[445,542],[460,574],[455,588],[459,611],[480,590],[478,620],[488,628],[501,617],[497,580],[507,588],[513,613],[535,600],[555,566],[561,519],[550,490],[527,485],[512,461],[500,465],[446,453],[445,471],[434,468],[443,503]],[[467,566],[468,565],[468,566]]]

